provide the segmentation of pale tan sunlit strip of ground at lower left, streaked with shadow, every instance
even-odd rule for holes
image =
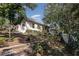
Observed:
[[[4,48],[0,48],[0,55],[4,55],[4,56],[17,55],[18,53],[22,53],[24,52],[24,50],[28,50],[28,49],[29,49],[28,44],[19,44],[10,47],[4,47]]]

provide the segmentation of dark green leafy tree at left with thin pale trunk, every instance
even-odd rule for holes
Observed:
[[[21,3],[1,3],[0,4],[0,17],[8,19],[9,22],[9,39],[11,38],[11,27],[17,25],[25,20],[25,8],[29,7],[34,9],[36,4],[21,4]],[[17,17],[18,16],[18,17]]]

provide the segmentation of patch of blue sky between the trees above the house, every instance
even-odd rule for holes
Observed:
[[[38,3],[34,10],[27,8],[26,15],[29,18],[33,18],[35,21],[43,23],[42,19],[44,17],[44,9],[46,7],[45,3]]]

